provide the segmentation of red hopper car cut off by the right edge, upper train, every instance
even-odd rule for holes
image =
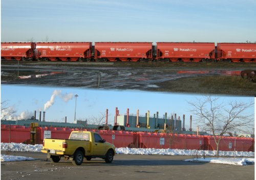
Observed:
[[[217,43],[218,60],[256,62],[256,43]]]

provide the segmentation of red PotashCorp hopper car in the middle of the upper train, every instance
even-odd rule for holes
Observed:
[[[95,42],[95,61],[152,60],[152,42]]]

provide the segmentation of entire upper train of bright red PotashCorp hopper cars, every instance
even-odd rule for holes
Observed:
[[[2,42],[2,60],[256,62],[256,43]]]

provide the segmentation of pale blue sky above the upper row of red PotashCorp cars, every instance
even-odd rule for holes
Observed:
[[[1,38],[255,42],[255,9],[254,0],[2,0]]]

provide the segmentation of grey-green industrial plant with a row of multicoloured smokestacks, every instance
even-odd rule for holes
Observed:
[[[78,129],[106,129],[108,130],[125,130],[134,132],[157,132],[158,130],[166,130],[167,132],[177,133],[177,134],[206,134],[205,132],[195,132],[191,128],[191,116],[190,116],[190,128],[186,130],[184,127],[185,116],[183,115],[183,122],[176,117],[176,114],[167,117],[165,113],[162,118],[159,117],[159,113],[156,112],[153,116],[150,116],[150,111],[147,111],[145,115],[139,116],[139,110],[137,114],[129,114],[129,109],[127,109],[126,114],[120,115],[118,109],[116,108],[116,114],[114,119],[114,124],[108,123],[108,109],[106,110],[106,119],[103,124],[88,124],[87,121],[77,120],[74,123],[67,122],[50,122],[45,121],[45,112],[42,113],[43,118],[41,120],[41,112],[39,112],[39,119],[36,119],[36,111],[31,119],[23,120],[1,120],[1,124],[13,124],[13,125],[23,125],[29,127],[31,122],[37,122],[39,127],[63,127],[63,128],[78,128]],[[122,127],[120,127],[122,126]]]

